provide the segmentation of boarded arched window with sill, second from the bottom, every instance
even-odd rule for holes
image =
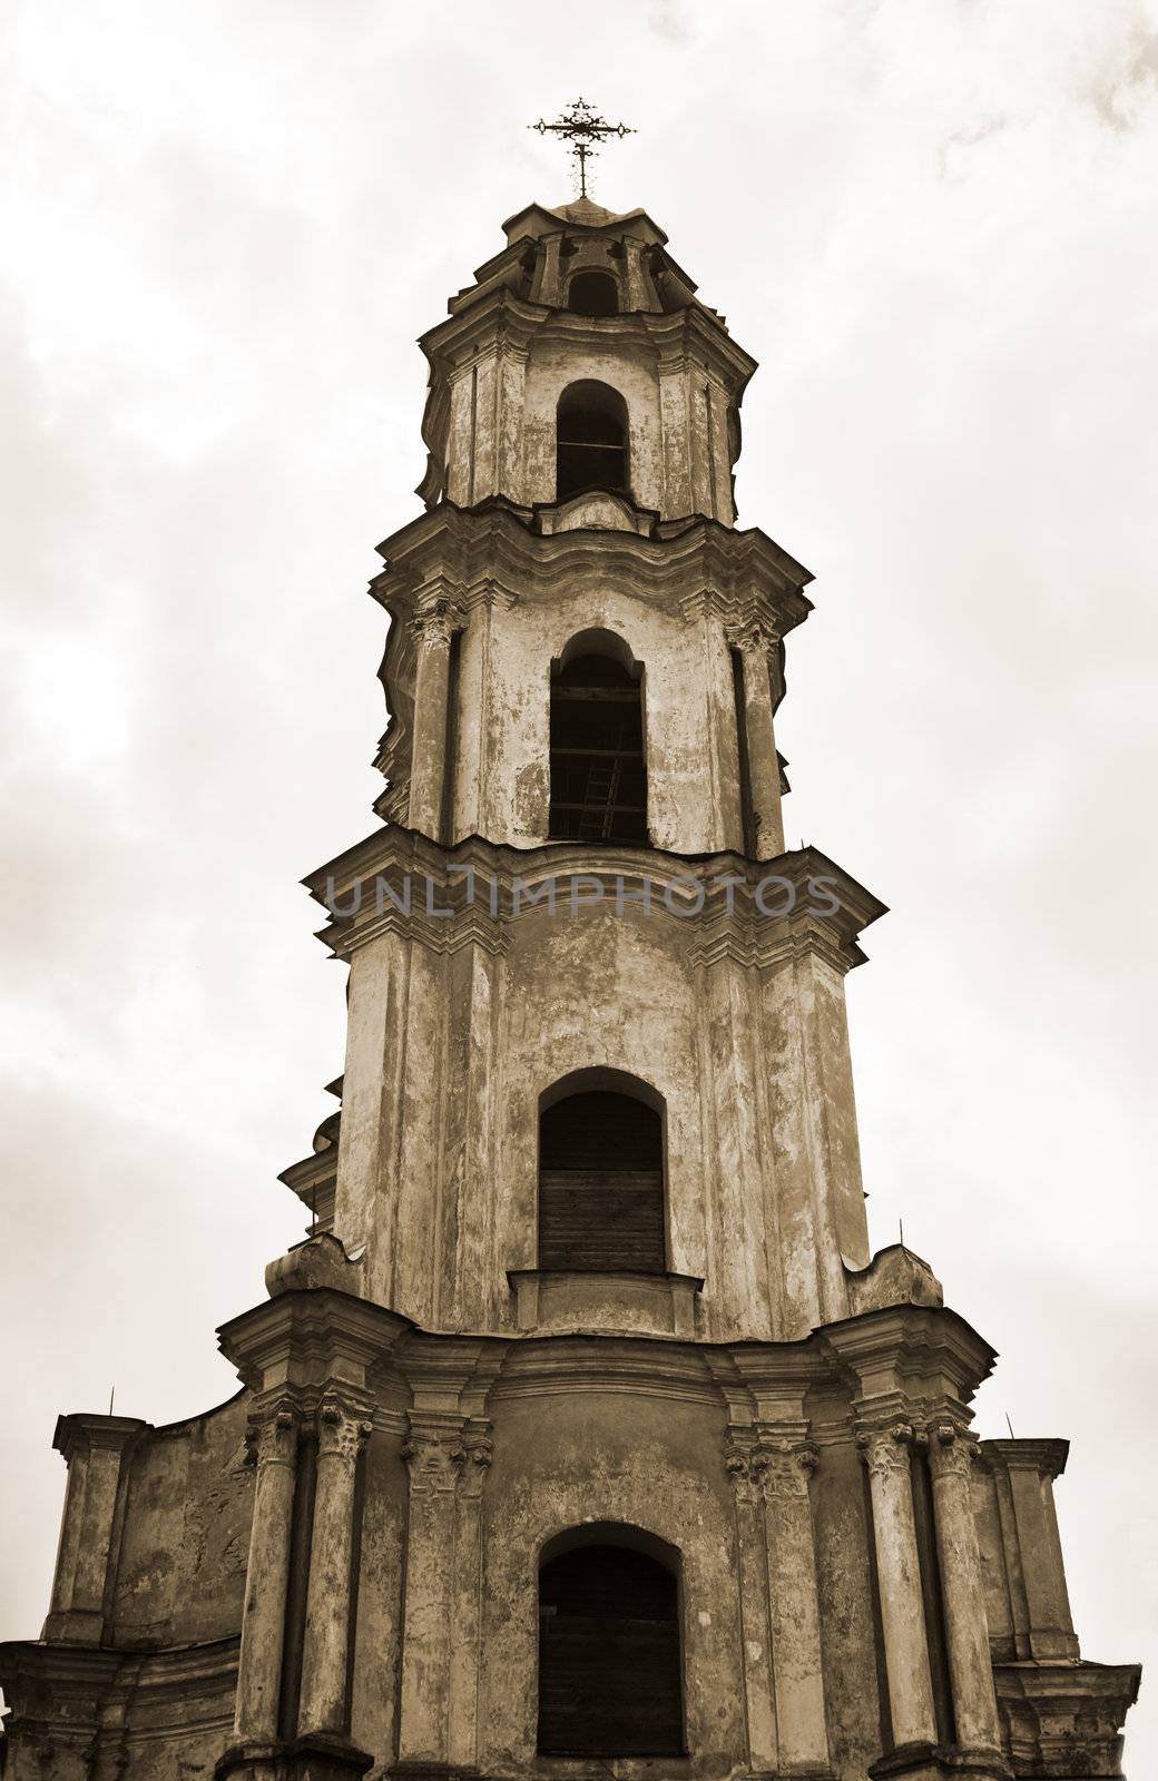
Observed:
[[[584,1072],[570,1092],[558,1095],[556,1085],[543,1097],[538,1265],[567,1273],[665,1273],[659,1108],[588,1083]]]

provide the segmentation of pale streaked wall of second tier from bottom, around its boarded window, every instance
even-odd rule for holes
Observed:
[[[591,866],[574,912],[565,880],[554,915],[488,924],[479,890],[461,923],[353,947],[335,1232],[367,1245],[369,1297],[424,1327],[513,1329],[540,1097],[611,1069],[663,1097],[668,1268],[704,1281],[700,1334],[791,1339],[844,1316],[844,1263],[868,1261],[844,962],[775,921],[745,956],[661,889],[648,914],[638,878],[620,912],[615,885],[590,905],[608,862],[572,851]],[[622,1327],[611,1288],[593,1327]]]

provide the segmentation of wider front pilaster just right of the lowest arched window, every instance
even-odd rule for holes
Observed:
[[[820,1656],[820,1598],[809,1476],[816,1448],[780,1439],[755,1464],[764,1489],[771,1667],[780,1769],[827,1769],[828,1729]]]

